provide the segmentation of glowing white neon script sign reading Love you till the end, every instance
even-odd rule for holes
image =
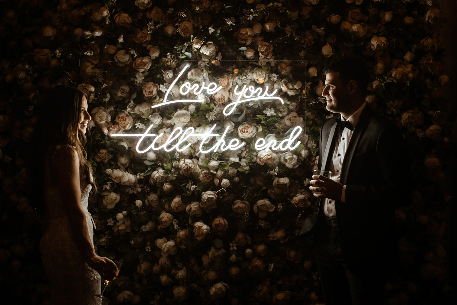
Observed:
[[[171,88],[175,86],[176,82],[179,80],[179,78],[184,74],[186,69],[189,66],[184,66],[179,75],[176,77],[175,80],[171,83],[170,87],[165,93],[164,96],[164,101],[151,106],[151,108],[156,108],[156,107],[161,107],[165,105],[169,105],[172,103],[177,103],[177,102],[204,102],[203,100],[199,99],[182,99],[182,100],[170,100],[168,101],[168,95],[171,91]],[[211,82],[207,86],[205,86],[205,83],[203,82],[202,85],[198,84],[191,84],[189,81],[184,82],[181,87],[179,88],[179,91],[182,95],[187,95],[189,93],[193,93],[194,95],[199,95],[202,93],[203,90],[206,90],[207,94],[212,95],[219,90],[223,89],[223,87],[218,86],[218,84]],[[268,86],[265,87],[264,90],[262,88],[255,88],[254,86],[243,86],[243,89],[241,91],[238,91],[239,86],[236,85],[234,88],[234,94],[237,96],[237,100],[235,102],[229,103],[227,106],[224,107],[223,109],[223,114],[228,116],[232,114],[236,107],[245,102],[250,102],[250,101],[255,101],[255,100],[271,100],[271,99],[276,99],[281,101],[282,104],[284,104],[284,101],[282,100],[281,97],[279,96],[274,96],[277,92],[277,89],[275,89],[273,92],[269,93],[268,92]],[[149,125],[149,127],[146,129],[146,131],[143,134],[112,134],[112,137],[139,137],[139,141],[136,145],[136,150],[138,153],[144,153],[148,150],[165,150],[167,152],[170,152],[172,150],[176,150],[178,152],[181,152],[183,150],[188,149],[192,142],[188,142],[187,140],[192,137],[198,137],[199,139],[202,139],[201,144],[200,144],[200,151],[204,154],[211,152],[211,151],[225,151],[225,150],[239,150],[241,147],[243,147],[246,143],[241,142],[239,139],[232,138],[230,140],[226,139],[226,135],[228,133],[228,130],[230,127],[225,128],[225,131],[223,134],[217,134],[213,133],[213,130],[217,127],[216,124],[213,124],[213,126],[210,128],[210,130],[207,133],[196,133],[195,128],[193,127],[188,127],[186,129],[183,129],[181,127],[176,127],[173,129],[170,135],[168,135],[168,139],[165,140],[165,143],[159,145],[157,142],[159,139],[162,138],[162,136],[165,133],[160,133],[160,134],[149,134],[149,131],[151,128],[153,128],[153,125]],[[298,139],[298,136],[301,134],[302,128],[300,126],[295,127],[292,130],[292,133],[289,135],[288,138],[283,139],[282,141],[276,141],[272,139],[270,142],[266,142],[265,139],[257,139],[254,148],[256,150],[267,150],[267,149],[272,149],[272,150],[294,150],[298,147],[298,145],[301,143],[300,141],[295,141]],[[143,143],[143,140],[146,137],[154,137],[153,141],[149,146],[146,148],[141,148],[141,144]],[[210,147],[209,149],[205,150],[203,149],[203,145],[207,141],[207,139],[212,138],[212,137],[218,137],[218,140],[216,143]]]

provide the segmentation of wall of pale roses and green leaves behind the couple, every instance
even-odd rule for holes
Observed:
[[[0,281],[18,304],[49,298],[38,249],[46,218],[27,193],[25,155],[36,111],[58,83],[90,97],[95,245],[123,261],[106,291],[113,304],[322,302],[311,240],[298,232],[317,204],[309,178],[320,125],[332,116],[320,95],[322,70],[344,56],[366,60],[367,102],[402,128],[410,148],[414,196],[397,211],[400,265],[386,300],[446,298],[445,123],[455,117],[437,1],[0,7]],[[144,133],[154,136],[137,149],[140,138],[129,135]]]

